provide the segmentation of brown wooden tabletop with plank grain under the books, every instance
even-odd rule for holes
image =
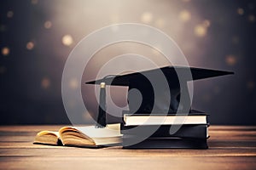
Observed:
[[[32,144],[61,126],[0,126],[1,169],[256,169],[256,127],[212,126],[208,150],[85,149]]]

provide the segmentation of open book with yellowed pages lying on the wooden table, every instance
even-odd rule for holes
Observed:
[[[59,132],[41,131],[34,144],[73,145],[79,147],[102,147],[122,142],[120,124],[108,124],[105,128],[95,126],[61,127]]]

